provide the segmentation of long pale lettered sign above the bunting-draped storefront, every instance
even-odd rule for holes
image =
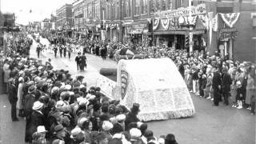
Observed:
[[[180,17],[180,16],[189,15],[190,12],[192,15],[206,14],[206,5],[201,4],[198,6],[191,6],[191,9],[189,7],[186,7],[186,8],[180,8],[178,10],[161,11],[159,13],[156,13],[155,16],[160,18]]]

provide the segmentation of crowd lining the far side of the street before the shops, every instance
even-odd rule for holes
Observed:
[[[191,93],[214,101],[214,106],[223,101],[226,106],[231,103],[232,107],[246,108],[251,114],[255,114],[253,62],[235,61],[228,55],[222,57],[217,51],[212,55],[205,51],[189,54],[186,50],[174,50],[167,46],[141,46],[115,41],[70,38],[61,42],[67,42],[74,51],[96,54],[103,59],[108,57],[118,61],[120,58],[171,58]]]

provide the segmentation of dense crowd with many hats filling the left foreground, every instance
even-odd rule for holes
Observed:
[[[139,121],[139,104],[128,110],[106,98],[100,87],[86,86],[83,76],[74,78],[68,70],[54,70],[50,61],[42,63],[23,55],[24,42],[18,44],[19,51],[17,46],[8,46],[9,52],[1,60],[11,118],[14,122],[18,117],[26,119],[25,142],[177,143],[174,134],[156,138],[147,124]]]

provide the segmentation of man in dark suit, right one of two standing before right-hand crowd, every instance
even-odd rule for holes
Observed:
[[[228,70],[226,67],[222,68],[222,94],[224,97],[224,104],[229,105],[229,95],[230,95],[230,85],[232,80],[230,74],[227,73]]]

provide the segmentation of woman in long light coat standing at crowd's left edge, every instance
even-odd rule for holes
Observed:
[[[18,116],[19,117],[23,116],[22,111],[24,110],[23,84],[24,84],[24,79],[22,77],[18,78],[17,109],[18,109]]]

